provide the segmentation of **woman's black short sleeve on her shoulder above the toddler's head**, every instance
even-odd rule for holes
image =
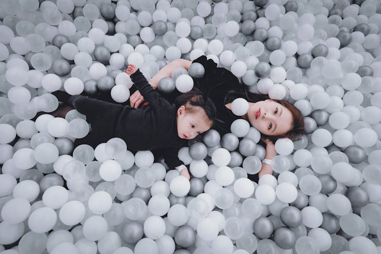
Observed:
[[[205,69],[203,77],[194,79],[194,85],[213,100],[216,105],[225,104],[225,95],[228,91],[242,89],[238,78],[225,68],[217,68],[217,63],[200,56],[193,62],[199,62]]]

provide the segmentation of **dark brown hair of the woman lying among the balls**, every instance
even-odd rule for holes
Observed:
[[[267,94],[258,94],[258,93],[252,93],[246,89],[245,91],[246,100],[248,102],[259,102],[259,101],[265,101],[267,99],[270,99]],[[291,111],[291,114],[293,116],[293,122],[291,124],[291,130],[283,135],[277,135],[277,136],[268,136],[265,134],[262,134],[263,138],[267,138],[273,142],[275,142],[277,139],[280,138],[289,138],[292,141],[298,140],[301,135],[306,134],[304,129],[304,117],[300,110],[295,107],[293,104],[291,104],[288,101],[285,100],[274,100],[277,103],[281,104],[285,108],[289,109]]]

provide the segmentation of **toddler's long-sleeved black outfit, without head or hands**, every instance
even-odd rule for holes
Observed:
[[[160,148],[170,168],[180,166],[183,163],[177,153],[180,147],[187,145],[187,140],[177,134],[177,108],[153,89],[139,70],[131,75],[131,79],[149,102],[144,108],[135,109],[80,95],[70,97],[69,104],[86,115],[91,126],[89,134],[77,139],[74,145],[88,144],[95,148],[118,137],[132,151]]]

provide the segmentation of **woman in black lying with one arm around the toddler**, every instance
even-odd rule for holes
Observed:
[[[270,100],[264,94],[250,93],[246,85],[241,85],[236,76],[225,68],[217,68],[217,64],[206,56],[200,56],[193,62],[199,62],[205,69],[202,78],[194,79],[194,86],[211,98],[217,108],[217,117],[214,129],[221,135],[230,132],[231,123],[239,118],[244,118],[262,134],[262,141],[266,144],[266,155],[258,176],[272,174],[271,160],[275,155],[274,142],[278,138],[297,140],[304,134],[303,115],[294,105],[287,101]],[[158,81],[164,77],[171,77],[172,72],[179,67],[188,70],[193,63],[185,59],[176,59],[163,67],[149,83],[156,89]],[[177,94],[173,94],[176,97]],[[231,111],[232,102],[237,98],[245,98],[249,103],[246,115],[236,116]],[[139,91],[130,97],[132,107],[139,107],[144,98]],[[143,104],[144,105],[144,104]]]

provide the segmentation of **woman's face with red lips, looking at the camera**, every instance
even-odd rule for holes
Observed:
[[[283,105],[265,100],[249,104],[247,118],[251,125],[267,136],[283,135],[291,130],[293,116]]]

